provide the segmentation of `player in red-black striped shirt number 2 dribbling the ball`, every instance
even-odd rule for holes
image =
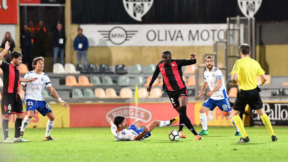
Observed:
[[[196,133],[190,119],[186,114],[188,94],[185,82],[182,79],[183,72],[181,67],[196,63],[196,54],[191,53],[190,55],[190,60],[175,60],[172,59],[170,51],[164,51],[162,53],[162,61],[160,61],[156,66],[151,82],[147,87],[147,91],[150,92],[152,84],[161,72],[163,77],[162,88],[164,92],[168,94],[175,110],[180,114],[179,133],[181,134],[181,137],[186,138],[186,135],[184,135],[182,132],[183,126],[185,124],[186,127],[195,135],[195,141],[199,141],[201,140],[201,136]]]

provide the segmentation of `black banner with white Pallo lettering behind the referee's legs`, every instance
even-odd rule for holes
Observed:
[[[263,108],[271,125],[288,125],[288,103],[263,103]],[[251,124],[264,125],[255,110],[252,110],[251,113]]]

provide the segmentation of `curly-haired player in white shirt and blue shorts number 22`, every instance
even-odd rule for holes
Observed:
[[[55,117],[53,115],[52,109],[50,108],[49,104],[45,101],[42,95],[45,86],[49,88],[50,93],[61,103],[61,105],[64,108],[67,108],[68,106],[67,103],[58,96],[57,92],[52,87],[49,77],[45,73],[43,73],[44,58],[43,57],[35,58],[33,60],[32,66],[33,69],[35,70],[25,74],[24,78],[29,79],[37,77],[38,79],[35,82],[27,84],[26,93],[24,95],[27,116],[25,116],[24,121],[22,123],[20,136],[23,137],[25,128],[29,124],[31,118],[34,116],[35,110],[37,110],[38,112],[40,112],[41,115],[48,117],[44,140],[54,140],[50,136],[50,132],[52,131],[52,128],[54,126]],[[22,90],[23,86],[25,85],[26,85],[25,82],[21,82],[20,90]]]

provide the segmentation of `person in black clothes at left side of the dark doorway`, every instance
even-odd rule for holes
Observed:
[[[29,70],[32,71],[33,61],[33,34],[28,30],[26,24],[23,25],[23,29],[20,32],[20,48],[22,49],[23,59],[22,63],[28,63]]]

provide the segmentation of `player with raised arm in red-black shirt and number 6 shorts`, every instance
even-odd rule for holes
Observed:
[[[22,124],[23,107],[22,101],[18,93],[20,82],[33,82],[38,78],[24,79],[20,77],[18,66],[22,63],[22,54],[18,51],[13,51],[10,54],[10,63],[3,62],[1,59],[9,50],[9,42],[6,41],[5,48],[0,54],[0,68],[3,70],[3,93],[1,99],[2,115],[4,116],[2,127],[4,133],[4,142],[26,142],[20,137],[20,129]],[[15,120],[15,136],[12,141],[8,136],[8,121],[11,114],[16,114]]]

